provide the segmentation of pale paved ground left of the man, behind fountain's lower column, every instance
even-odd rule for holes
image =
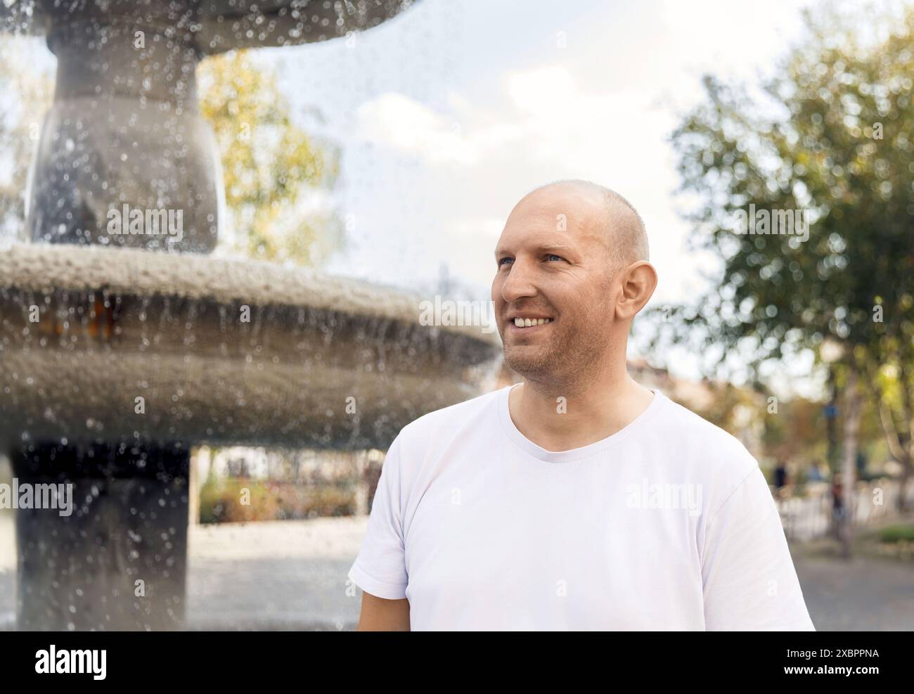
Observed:
[[[346,571],[367,518],[239,523],[190,529],[192,629],[352,629],[361,593]],[[0,628],[15,612],[12,514],[0,513]],[[346,594],[346,593],[350,594]]]

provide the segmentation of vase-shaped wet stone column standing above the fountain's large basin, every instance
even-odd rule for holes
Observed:
[[[98,22],[80,17],[48,33],[57,87],[27,192],[28,233],[50,243],[212,251],[223,191],[215,140],[197,112],[192,35],[180,25]],[[180,233],[154,229],[169,212]]]

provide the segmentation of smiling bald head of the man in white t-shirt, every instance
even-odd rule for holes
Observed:
[[[559,385],[610,358],[624,365],[632,318],[657,283],[643,221],[625,198],[589,181],[538,187],[508,216],[495,262],[509,367]],[[517,318],[547,321],[520,327]]]

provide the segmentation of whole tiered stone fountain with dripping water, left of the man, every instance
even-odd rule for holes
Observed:
[[[0,3],[0,28],[43,34],[58,57],[32,242],[0,256],[0,445],[20,485],[71,483],[75,503],[16,512],[19,628],[184,628],[193,445],[383,448],[480,392],[497,336],[420,326],[399,291],[207,255],[223,203],[199,59],[342,36],[406,5]],[[112,232],[130,209],[143,233]]]

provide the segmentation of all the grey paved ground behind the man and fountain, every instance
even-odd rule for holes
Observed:
[[[191,628],[350,629],[360,596],[345,573],[367,518],[202,526],[191,529]],[[796,547],[794,564],[819,631],[914,630],[914,561]],[[14,610],[11,514],[0,513],[0,624]]]

